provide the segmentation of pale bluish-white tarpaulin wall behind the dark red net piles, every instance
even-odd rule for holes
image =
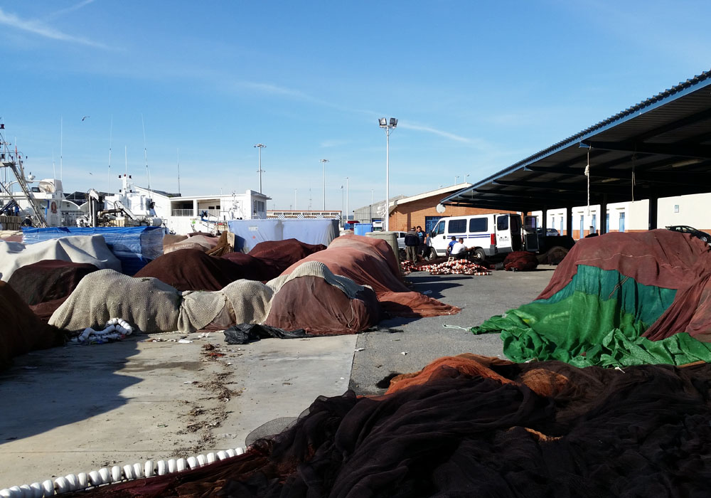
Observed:
[[[306,244],[328,245],[338,237],[338,220],[325,218],[230,220],[228,227],[235,234],[235,250],[245,253],[266,240],[295,238]]]

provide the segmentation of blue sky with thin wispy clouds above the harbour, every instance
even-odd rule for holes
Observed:
[[[711,69],[706,1],[0,1],[6,139],[65,191],[351,210],[476,181]],[[89,116],[82,121],[83,116]],[[61,126],[60,126],[60,123]],[[145,141],[144,141],[145,127]],[[111,178],[108,178],[109,137]],[[126,154],[124,154],[124,151]],[[310,194],[309,194],[310,191]],[[296,206],[294,206],[296,194]]]

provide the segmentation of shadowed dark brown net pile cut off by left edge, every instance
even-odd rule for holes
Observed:
[[[41,322],[11,285],[0,281],[0,369],[13,356],[63,343],[63,334]]]

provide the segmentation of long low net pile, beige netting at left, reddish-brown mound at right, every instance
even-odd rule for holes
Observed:
[[[236,280],[213,292],[181,292],[153,277],[100,270],[82,279],[50,324],[76,335],[114,317],[149,334],[227,329],[242,323],[352,334],[377,323],[380,311],[372,290],[333,275],[317,262],[300,265],[266,285]]]

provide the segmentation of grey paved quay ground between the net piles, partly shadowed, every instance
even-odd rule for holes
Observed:
[[[20,356],[0,373],[0,489],[242,447],[252,430],[298,416],[317,396],[338,396],[349,386],[382,393],[375,384],[391,371],[417,371],[440,356],[502,356],[498,336],[465,329],[535,299],[553,269],[474,277],[415,272],[407,277],[415,290],[462,312],[381,322],[392,332],[243,346],[226,344],[221,332],[160,334]],[[192,342],[178,343],[181,337]]]

